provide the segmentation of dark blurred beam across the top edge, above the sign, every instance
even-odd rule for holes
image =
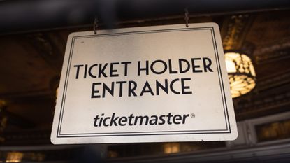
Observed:
[[[91,24],[94,15],[107,29],[129,20],[183,15],[249,13],[290,8],[289,0],[30,0],[0,2],[0,34]]]

